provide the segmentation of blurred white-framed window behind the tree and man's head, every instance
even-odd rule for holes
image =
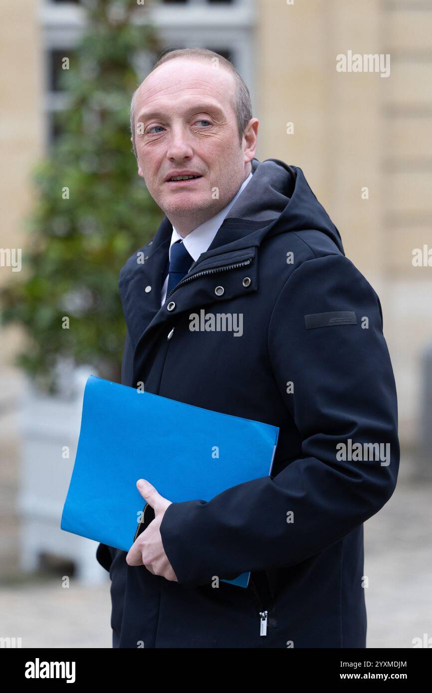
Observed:
[[[255,0],[159,0],[148,5],[148,15],[137,13],[137,23],[149,17],[166,51],[200,46],[220,53],[239,70],[254,100]],[[85,2],[41,0],[45,46],[46,146],[58,137],[58,112],[68,101],[62,89],[62,58],[75,58],[74,47],[85,28]],[[137,55],[138,80],[152,69],[153,56]],[[132,96],[132,94],[131,94]]]

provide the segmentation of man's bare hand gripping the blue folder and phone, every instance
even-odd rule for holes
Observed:
[[[155,511],[155,519],[135,539],[126,556],[126,563],[128,565],[145,565],[153,575],[162,575],[167,580],[178,582],[173,567],[166,556],[159,531],[166,508],[171,505],[171,500],[167,500],[157,493],[155,486],[152,486],[145,479],[137,481],[137,489]]]

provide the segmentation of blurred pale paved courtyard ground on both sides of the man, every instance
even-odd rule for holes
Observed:
[[[368,647],[413,647],[432,637],[431,484],[415,484],[401,463],[388,504],[365,523]],[[10,523],[6,553],[12,549]],[[3,554],[4,555],[4,554]],[[12,555],[12,554],[9,554]],[[4,563],[3,563],[4,565]],[[0,582],[0,635],[21,637],[22,647],[111,647],[110,582],[83,588],[73,579],[32,579],[8,570]]]

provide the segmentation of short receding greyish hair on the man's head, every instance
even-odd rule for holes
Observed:
[[[153,69],[150,70],[149,74],[151,74],[157,67],[159,67],[159,65],[162,65],[164,64],[164,62],[168,62],[169,60],[175,60],[175,58],[187,58],[188,60],[214,60],[216,58],[218,60],[218,63],[221,64],[222,67],[225,67],[226,69],[231,71],[235,83],[235,96],[233,107],[234,112],[236,114],[237,130],[239,131],[239,138],[241,143],[246,125],[248,125],[250,119],[252,118],[252,102],[250,100],[249,89],[245,81],[243,80],[241,74],[236,71],[232,62],[224,58],[223,55],[220,55],[215,51],[210,51],[206,48],[177,49],[175,51],[169,51],[168,53],[162,55],[162,57],[159,58],[159,60],[157,60],[157,62],[153,66]],[[134,111],[138,89],[139,87],[135,89],[134,93],[132,94],[132,99],[130,101],[130,134],[132,135],[132,147],[134,150],[135,158],[137,158],[137,146],[135,143]]]

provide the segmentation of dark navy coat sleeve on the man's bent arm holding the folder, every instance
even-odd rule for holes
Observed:
[[[306,327],[305,315],[342,310],[354,311],[356,324],[325,316],[315,324],[326,326]],[[395,489],[397,396],[381,305],[351,261],[330,255],[293,271],[270,317],[268,352],[302,455],[273,477],[166,509],[162,543],[180,584],[304,561],[377,513]],[[349,459],[354,444],[363,452]],[[365,454],[364,444],[381,452]]]

